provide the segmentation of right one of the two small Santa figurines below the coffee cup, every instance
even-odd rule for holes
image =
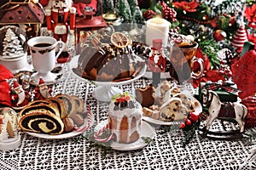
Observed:
[[[34,99],[47,99],[52,96],[52,88],[40,77],[38,87],[33,90]]]

